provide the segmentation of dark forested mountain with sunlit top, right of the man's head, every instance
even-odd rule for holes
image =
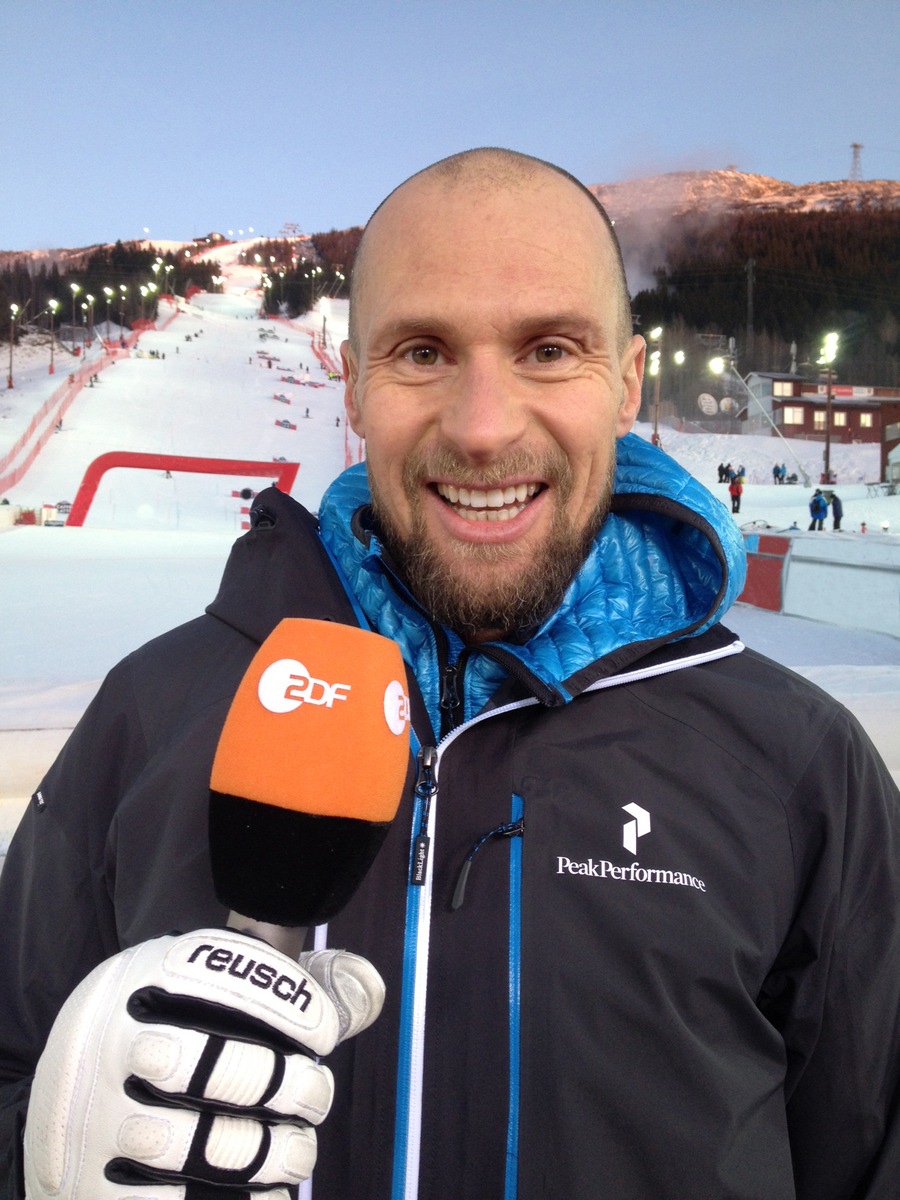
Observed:
[[[900,182],[728,168],[590,191],[616,222],[640,331],[662,325],[689,354],[719,337],[744,372],[815,374],[834,330],[842,379],[900,385]]]

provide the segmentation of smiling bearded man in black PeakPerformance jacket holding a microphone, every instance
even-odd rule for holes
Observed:
[[[102,1003],[89,984],[76,1010],[120,1027],[130,997],[158,996],[142,986],[157,942],[168,955],[191,936],[160,935],[224,920],[210,763],[258,643],[301,614],[398,642],[421,748],[415,792],[326,931],[386,998],[329,1058],[316,1200],[895,1198],[899,797],[850,714],[719,624],[740,536],[629,432],[643,354],[608,221],[557,168],[472,151],[376,212],[343,348],[366,467],[329,488],[318,529],[275,491],[257,499],[208,614],[110,674],[11,847],[7,1195],[23,1122],[25,1169],[48,1157],[29,1129],[53,1108],[42,1075],[66,1082],[55,1034],[43,1048],[61,1006],[56,1028],[77,1025],[78,979],[96,964],[126,979]],[[329,990],[331,962],[310,965],[322,1010],[377,1009],[364,968]],[[179,1046],[199,1007],[172,1016]],[[242,1026],[253,1054],[264,1025]],[[133,1082],[121,1097],[90,1045],[76,1074],[108,1127],[158,1133],[150,1171],[180,1136],[170,1110]],[[217,1068],[196,1074],[224,1094]],[[228,1112],[252,1140],[271,1122],[241,1103]],[[106,1181],[84,1109],[65,1145]],[[218,1142],[188,1154],[214,1182],[241,1142],[217,1120]],[[169,1200],[115,1163],[132,1186],[102,1195]]]

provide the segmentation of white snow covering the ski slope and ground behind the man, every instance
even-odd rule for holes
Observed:
[[[161,305],[158,323],[172,317],[168,326],[144,334],[138,350],[100,371],[96,385],[79,394],[62,430],[7,493],[11,504],[72,500],[98,455],[132,450],[299,462],[293,494],[317,506],[328,482],[361,455],[343,419],[342,388],[328,378],[312,348],[324,334],[329,361],[337,365],[346,304],[323,300],[313,314],[290,323],[260,319],[258,272],[241,264],[241,248],[215,251],[228,277],[226,294],[179,301],[174,314]],[[96,344],[90,355],[100,362]],[[56,373],[48,376],[46,344],[16,348],[14,388],[0,392],[0,460],[73,361],[58,349]],[[649,426],[638,432],[649,437]],[[661,432],[665,449],[724,500],[719,462],[746,468],[737,522],[779,530],[797,522],[805,530],[810,490],[775,486],[772,466],[787,461],[793,470],[798,458],[817,479],[821,444],[791,443],[788,454],[770,437]],[[798,536],[858,538],[865,522],[866,538],[893,541],[900,534],[900,497],[866,494],[865,482],[878,475],[877,449],[835,445],[832,464],[845,532]],[[212,599],[247,504],[235,493],[268,482],[115,469],[104,475],[84,528],[0,528],[0,854],[22,803],[106,671]],[[882,523],[887,535],[880,533]],[[900,640],[845,630],[840,613],[823,616],[830,623],[736,606],[728,624],[748,644],[847,703],[900,779]]]

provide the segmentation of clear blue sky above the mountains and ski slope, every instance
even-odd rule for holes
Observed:
[[[472,145],[900,179],[898,0],[0,0],[0,250],[364,223]]]

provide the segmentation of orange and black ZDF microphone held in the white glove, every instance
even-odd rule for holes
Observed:
[[[212,882],[228,924],[292,958],[372,865],[409,761],[400,648],[284,618],[240,682],[210,776]]]

